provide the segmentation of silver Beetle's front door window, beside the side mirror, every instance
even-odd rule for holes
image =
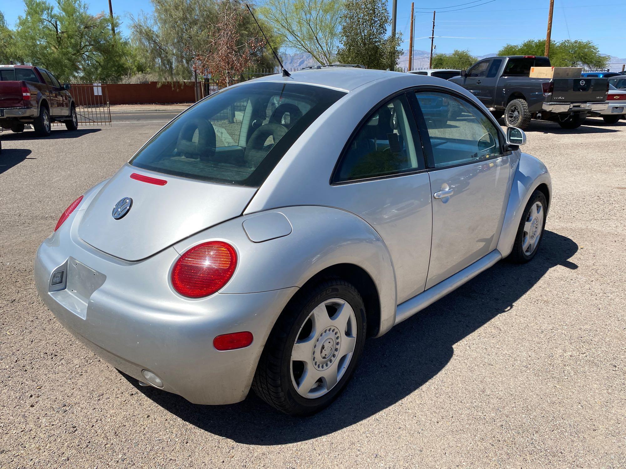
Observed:
[[[426,121],[431,168],[443,168],[486,158],[502,152],[500,133],[476,106],[451,94],[434,91],[416,93]]]

